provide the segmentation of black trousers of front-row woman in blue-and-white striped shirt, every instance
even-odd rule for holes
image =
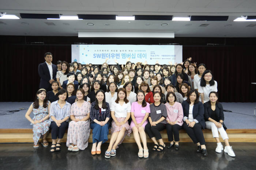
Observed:
[[[51,122],[50,129],[52,130],[52,139],[62,139],[66,129],[68,129],[68,122],[62,122],[60,127],[58,127],[55,122]]]

